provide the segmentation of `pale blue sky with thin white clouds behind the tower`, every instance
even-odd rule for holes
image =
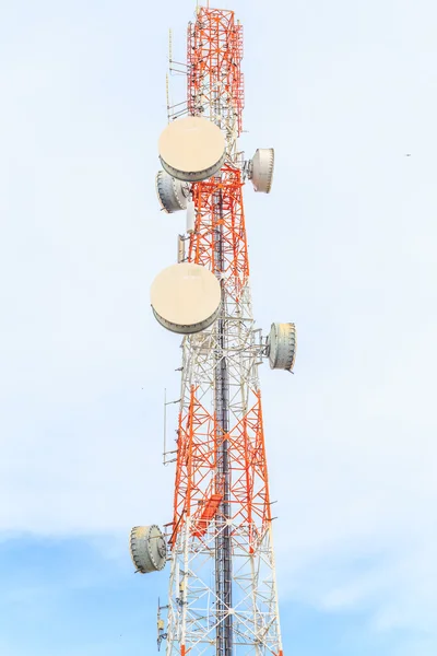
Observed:
[[[284,652],[435,656],[437,9],[220,7],[245,31],[240,145],[275,149],[272,192],[245,190],[255,316],[298,331],[295,376],[260,371]],[[155,648],[168,572],[134,575],[128,535],[172,515],[179,338],[149,289],[184,230],[154,176],[193,12],[0,9],[1,656]]]

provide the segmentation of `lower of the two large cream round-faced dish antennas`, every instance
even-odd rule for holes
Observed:
[[[218,315],[221,297],[214,273],[191,262],[167,267],[156,276],[151,288],[156,320],[167,330],[184,335],[209,328]]]

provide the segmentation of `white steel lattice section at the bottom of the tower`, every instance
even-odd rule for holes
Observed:
[[[199,544],[190,543],[188,524],[185,532],[180,535],[172,561],[167,656],[181,654],[182,639],[191,654],[210,656],[216,653],[217,597],[211,575],[215,566],[216,536],[211,527]],[[279,653],[280,636],[270,531],[255,553],[248,553],[248,540],[247,531],[235,531],[233,653],[274,655]]]

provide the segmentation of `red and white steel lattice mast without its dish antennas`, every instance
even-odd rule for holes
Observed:
[[[243,27],[234,12],[199,8],[187,50],[187,113],[221,128],[226,162],[191,185],[186,261],[214,272],[222,304],[211,328],[182,341],[166,653],[282,656],[258,379],[265,344],[252,318],[237,151]]]

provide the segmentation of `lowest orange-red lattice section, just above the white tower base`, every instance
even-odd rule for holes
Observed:
[[[231,485],[231,518],[234,528],[245,527],[249,536],[245,546],[252,552],[257,540],[271,520],[269,482],[265,462],[261,397],[258,391],[253,407],[224,435],[217,436],[214,417],[200,403],[191,388],[190,405],[179,417],[175,514],[172,542],[182,529],[185,519],[192,518],[192,535],[202,538],[218,511],[223,489],[214,476],[217,452],[226,440],[233,472]]]

